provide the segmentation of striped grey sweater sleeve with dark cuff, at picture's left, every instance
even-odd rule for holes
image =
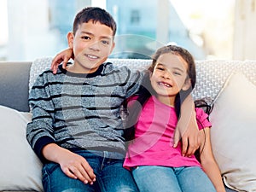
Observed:
[[[27,124],[26,138],[39,159],[44,161],[42,148],[49,143],[55,143],[53,137],[54,105],[49,94],[49,82],[46,73],[38,76],[29,95],[32,108],[32,122]]]

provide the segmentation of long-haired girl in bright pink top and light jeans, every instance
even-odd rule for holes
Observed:
[[[131,170],[139,190],[224,192],[212,154],[211,124],[207,113],[197,108],[198,102],[195,102],[195,114],[202,137],[199,160],[195,155],[183,156],[181,143],[177,148],[170,144],[181,103],[195,87],[192,55],[174,45],[158,49],[143,85],[140,94],[128,102],[131,115],[127,122],[136,124],[135,129],[128,129],[134,132],[129,133],[131,143],[124,163]],[[139,109],[139,106],[143,107]]]

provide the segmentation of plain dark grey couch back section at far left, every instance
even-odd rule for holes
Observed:
[[[28,112],[31,62],[0,62],[0,105]]]

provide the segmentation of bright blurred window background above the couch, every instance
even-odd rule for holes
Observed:
[[[117,22],[111,57],[148,59],[164,44],[195,60],[255,60],[256,0],[0,0],[0,61],[33,61],[67,48],[77,12],[107,9]]]

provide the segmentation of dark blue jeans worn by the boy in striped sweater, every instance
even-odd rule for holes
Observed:
[[[78,179],[67,177],[59,164],[49,163],[43,167],[45,192],[130,192],[138,191],[131,172],[123,167],[124,155],[107,151],[76,152],[83,156],[96,174],[93,185],[84,184]]]

